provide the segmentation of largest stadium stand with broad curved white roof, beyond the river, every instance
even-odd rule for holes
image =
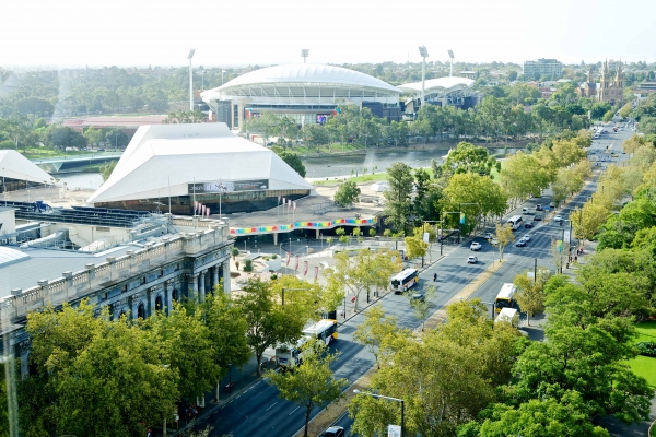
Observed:
[[[401,120],[402,92],[376,78],[335,66],[297,63],[263,68],[201,93],[216,120],[238,130],[262,111],[289,116],[298,126],[323,125],[339,104],[367,107],[389,121]]]

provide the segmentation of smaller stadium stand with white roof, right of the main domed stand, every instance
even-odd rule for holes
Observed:
[[[471,79],[458,76],[430,79],[424,82],[424,99],[438,106],[472,108],[479,103],[478,94],[471,90],[473,83]],[[410,99],[406,102],[406,113],[415,111],[421,103],[421,82],[406,83],[398,87],[410,95]]]

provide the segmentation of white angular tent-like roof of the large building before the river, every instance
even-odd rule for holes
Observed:
[[[269,190],[312,189],[276,153],[225,123],[141,126],[89,203],[188,196],[188,184],[268,179]]]

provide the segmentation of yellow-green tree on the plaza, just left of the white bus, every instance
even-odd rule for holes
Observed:
[[[335,256],[335,271],[328,276],[328,287],[353,296],[353,311],[358,311],[360,293],[386,288],[389,277],[402,268],[401,257],[395,250],[362,249],[354,257],[341,252]]]

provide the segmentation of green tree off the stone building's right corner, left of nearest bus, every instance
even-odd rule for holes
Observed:
[[[271,284],[260,280],[250,280],[244,286],[243,294],[235,305],[246,317],[248,345],[257,358],[257,373],[260,374],[262,354],[278,343],[291,343],[301,338],[301,331],[307,321],[294,311],[294,305],[281,307]]]

